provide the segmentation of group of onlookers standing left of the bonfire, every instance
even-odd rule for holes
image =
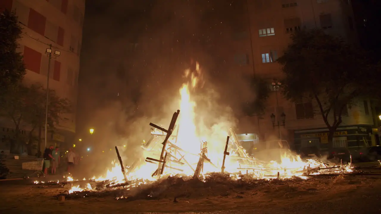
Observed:
[[[56,170],[61,164],[61,154],[59,151],[59,147],[55,147],[53,145],[50,145],[49,148],[45,149],[44,155],[44,174],[48,174],[50,171],[51,174],[56,174]],[[74,168],[74,165],[77,164],[77,155],[74,153],[73,149],[69,149],[69,151],[66,153],[65,161],[67,163],[67,171],[71,172]],[[48,169],[50,169],[48,171]]]

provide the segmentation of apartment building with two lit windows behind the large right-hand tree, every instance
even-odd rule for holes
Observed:
[[[328,34],[341,36],[349,42],[357,42],[350,0],[253,0],[247,1],[250,28],[237,29],[234,43],[234,56],[237,69],[242,72],[254,72],[254,75],[269,81],[271,94],[265,115],[258,119],[262,140],[286,139],[295,148],[328,146],[328,129],[322,117],[314,109],[314,104],[295,104],[285,100],[280,91],[271,86],[282,79],[280,65],[276,62],[283,50],[290,43],[290,34],[304,27],[321,28]],[[250,34],[251,32],[251,34]],[[248,39],[251,35],[251,42]],[[249,37],[250,38],[250,37]],[[251,43],[252,50],[248,44]],[[239,51],[237,53],[237,51]],[[274,80],[277,79],[277,80]],[[277,104],[278,103],[278,104]],[[356,105],[344,110],[343,123],[334,137],[336,147],[361,147],[374,141],[371,134],[373,112],[369,100],[359,100]],[[276,116],[275,125],[280,115],[285,113],[285,127],[273,127],[270,115]],[[280,121],[282,125],[282,121]]]

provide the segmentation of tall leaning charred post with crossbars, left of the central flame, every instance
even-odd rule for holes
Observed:
[[[163,132],[166,133],[166,136],[165,136],[165,139],[164,141],[162,142],[163,144],[163,148],[162,148],[162,152],[160,154],[160,160],[156,160],[156,159],[153,159],[153,158],[147,158],[148,160],[153,160],[153,161],[158,161],[159,162],[159,165],[158,165],[158,168],[157,170],[154,172],[154,174],[152,174],[152,177],[153,176],[160,176],[162,173],[163,173],[163,170],[164,170],[164,167],[165,167],[165,158],[164,158],[164,152],[165,152],[165,147],[166,147],[166,144],[168,142],[168,139],[170,138],[172,132],[173,132],[173,129],[174,129],[174,125],[176,124],[176,120],[177,120],[177,117],[179,116],[179,113],[180,113],[180,110],[177,110],[177,112],[174,112],[173,113],[173,116],[172,116],[172,120],[171,120],[171,123],[168,127],[168,130],[158,126],[158,125],[155,125],[153,123],[150,123],[149,125],[154,127],[154,128],[157,128]]]

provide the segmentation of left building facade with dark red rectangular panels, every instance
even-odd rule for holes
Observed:
[[[52,55],[50,61],[49,88],[54,89],[59,97],[69,99],[73,111],[60,115],[62,121],[57,126],[58,131],[48,134],[48,144],[71,142],[75,133],[85,0],[2,0],[0,10],[14,11],[23,28],[19,52],[24,56],[27,69],[26,83],[38,82],[46,87],[49,63],[46,49],[51,45],[52,53],[60,51],[60,55]],[[4,130],[10,128],[6,123],[3,126]],[[23,128],[27,129],[27,126]],[[44,139],[41,144],[43,149]]]

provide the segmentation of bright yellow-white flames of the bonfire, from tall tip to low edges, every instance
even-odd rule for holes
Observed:
[[[125,188],[136,187],[147,182],[154,182],[159,178],[168,176],[181,175],[182,177],[194,177],[200,161],[200,155],[205,154],[208,161],[205,161],[202,166],[202,171],[197,176],[203,179],[211,172],[221,172],[224,157],[224,172],[229,173],[231,179],[238,179],[241,174],[247,174],[258,179],[273,179],[273,178],[290,178],[293,176],[306,179],[307,174],[319,173],[346,173],[351,172],[351,164],[347,165],[331,165],[325,164],[317,160],[302,160],[298,155],[284,153],[280,157],[280,161],[261,161],[255,157],[249,157],[245,150],[239,145],[237,137],[231,130],[219,129],[213,131],[213,136],[203,135],[199,131],[199,123],[203,121],[196,118],[195,113],[196,102],[192,97],[194,90],[203,85],[202,73],[199,64],[196,64],[195,70],[186,70],[185,78],[187,82],[182,85],[179,90],[181,100],[179,101],[180,114],[176,122],[176,128],[173,131],[173,136],[168,140],[170,147],[165,152],[167,153],[167,161],[160,174],[153,174],[157,169],[157,162],[153,161],[136,161],[132,166],[126,167],[126,178],[121,171],[121,166],[118,161],[113,161],[112,168],[107,170],[104,176],[93,177],[93,181],[110,181],[112,185],[126,184]],[[151,129],[151,141],[162,138],[166,133],[158,129]],[[226,136],[230,136],[229,147],[224,155]],[[157,140],[156,140],[157,141]],[[157,141],[159,142],[159,141]],[[160,159],[160,151],[162,144],[151,142],[142,145],[143,153],[146,157]],[[68,181],[73,180],[73,177],[67,177]],[[82,179],[81,179],[82,180]],[[85,178],[83,180],[86,180]],[[108,184],[110,184],[110,182]],[[74,185],[69,193],[80,192],[83,190],[92,190],[90,184],[83,186]]]

